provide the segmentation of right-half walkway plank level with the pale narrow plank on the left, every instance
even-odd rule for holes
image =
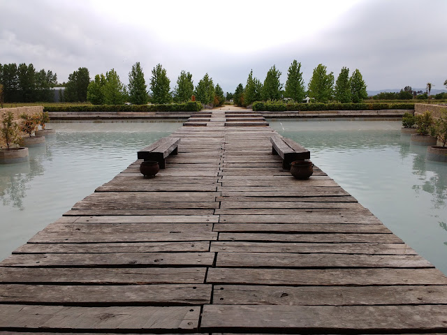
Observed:
[[[223,211],[225,211],[223,209]],[[312,213],[307,213],[306,211],[292,211],[290,215],[257,215],[257,214],[247,214],[243,215],[244,209],[238,211],[235,209],[236,213],[240,212],[239,215],[225,214],[221,215],[219,222],[221,223],[363,223],[363,224],[377,224],[381,223],[376,216],[369,214],[362,215],[349,215],[349,214],[338,214],[333,213],[330,215],[324,214],[323,212],[313,211]]]

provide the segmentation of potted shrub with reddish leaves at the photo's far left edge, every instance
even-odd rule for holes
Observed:
[[[1,113],[0,134],[6,144],[6,147],[0,148],[0,164],[18,163],[28,160],[28,148],[17,147],[20,142],[19,126],[14,121],[13,112]]]

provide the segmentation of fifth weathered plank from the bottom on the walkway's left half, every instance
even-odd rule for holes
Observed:
[[[141,243],[27,243],[13,253],[163,253],[205,252],[209,241],[141,242]]]

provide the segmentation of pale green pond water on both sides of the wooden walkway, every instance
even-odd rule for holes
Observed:
[[[182,121],[58,123],[27,163],[0,165],[0,259],[6,258]],[[400,135],[400,121],[274,120],[312,161],[447,274],[447,164]]]

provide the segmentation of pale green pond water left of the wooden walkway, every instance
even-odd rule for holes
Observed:
[[[29,162],[0,165],[0,259],[71,209],[137,158],[136,151],[173,133],[181,121],[58,123]]]

